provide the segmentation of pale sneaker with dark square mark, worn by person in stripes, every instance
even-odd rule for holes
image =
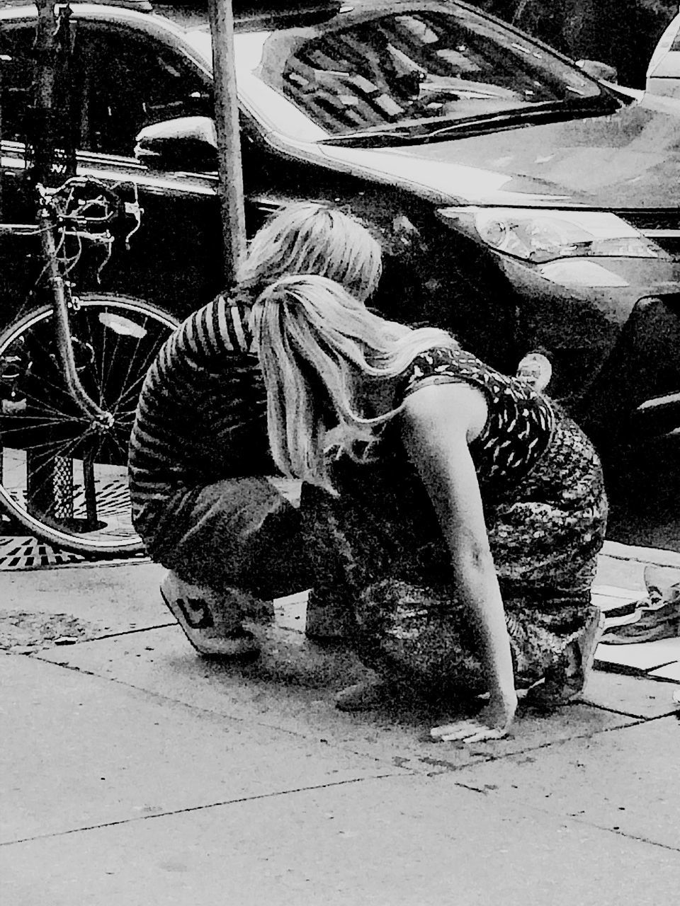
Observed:
[[[170,572],[160,584],[160,596],[203,657],[243,660],[259,654],[255,635],[243,628],[213,589],[184,582]]]

